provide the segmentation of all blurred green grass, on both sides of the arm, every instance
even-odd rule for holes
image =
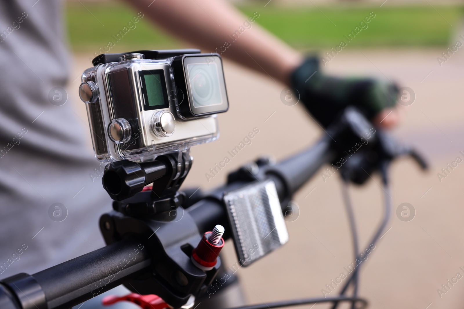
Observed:
[[[113,35],[137,15],[118,3],[83,3],[85,7],[72,1],[66,8],[71,47],[77,51],[100,53],[98,50],[109,41],[116,42]],[[445,46],[453,33],[451,25],[457,25],[463,14],[460,6],[436,6],[439,13],[431,6],[319,8],[264,7],[255,3],[240,9],[248,16],[258,12],[258,24],[300,49],[339,45],[340,41],[346,41],[343,36],[353,31],[370,12],[376,14],[375,18],[350,46]],[[183,47],[180,41],[163,33],[145,16],[111,52],[179,47]]]

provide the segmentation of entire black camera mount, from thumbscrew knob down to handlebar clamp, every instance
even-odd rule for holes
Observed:
[[[208,270],[191,261],[202,235],[182,208],[186,195],[178,189],[192,162],[188,150],[150,162],[122,160],[108,164],[102,179],[115,200],[114,210],[100,218],[106,244],[136,238],[143,247],[139,249],[148,250],[152,258],[151,269],[124,285],[134,293],[156,294],[173,308],[193,306],[195,296],[206,291],[221,265],[219,257]]]

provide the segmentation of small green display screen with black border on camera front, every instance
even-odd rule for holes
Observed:
[[[142,71],[140,80],[142,82],[144,110],[169,106],[163,70]]]

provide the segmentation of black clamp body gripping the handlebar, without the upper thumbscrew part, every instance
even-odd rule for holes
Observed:
[[[131,211],[134,205],[127,204]],[[191,262],[193,248],[201,237],[193,217],[182,207],[171,206],[168,211],[137,216],[113,210],[101,216],[100,230],[107,245],[131,238],[142,244],[139,250],[148,252],[150,268],[123,284],[142,295],[156,291],[174,308],[184,306],[193,296],[204,294],[221,267],[219,257],[216,265],[207,271]],[[128,259],[131,258],[134,259]]]

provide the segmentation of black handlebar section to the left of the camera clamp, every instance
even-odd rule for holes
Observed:
[[[122,284],[149,266],[150,255],[139,241],[121,240],[32,276],[22,273],[6,278],[2,287],[16,294],[21,306],[9,307],[5,300],[10,297],[1,290],[0,307],[68,309]]]

